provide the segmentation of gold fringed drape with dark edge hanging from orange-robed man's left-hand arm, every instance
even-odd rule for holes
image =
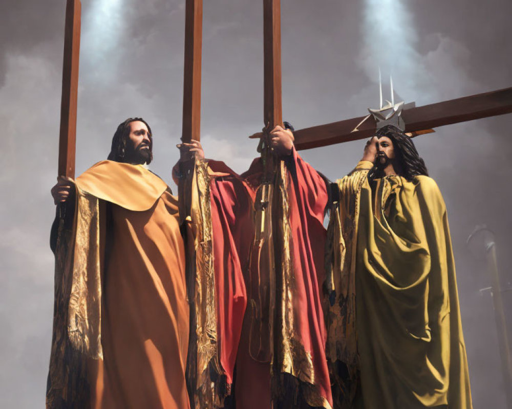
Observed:
[[[55,306],[48,374],[48,408],[89,399],[90,358],[101,359],[100,203],[75,185],[68,223],[56,220]],[[68,225],[66,225],[68,224]]]

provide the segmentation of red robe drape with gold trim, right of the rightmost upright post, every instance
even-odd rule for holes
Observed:
[[[326,365],[326,328],[322,310],[323,226],[327,205],[324,179],[293,150],[276,177],[276,309],[273,372],[297,378],[305,402],[332,405]],[[286,396],[288,382],[273,379],[274,394]]]

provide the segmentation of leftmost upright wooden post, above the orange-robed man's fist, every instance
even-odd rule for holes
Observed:
[[[80,57],[80,0],[68,0],[60,102],[59,176],[75,177],[76,110]]]

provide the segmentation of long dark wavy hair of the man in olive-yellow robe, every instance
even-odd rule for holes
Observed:
[[[428,176],[429,172],[426,170],[425,162],[418,154],[413,141],[404,132],[398,129],[394,125],[386,125],[380,128],[375,136],[377,138],[388,137],[393,142],[393,149],[395,152],[396,160],[402,167],[403,176],[407,180],[411,181],[415,176],[425,175]],[[368,174],[370,179],[377,176],[378,169],[373,169]]]

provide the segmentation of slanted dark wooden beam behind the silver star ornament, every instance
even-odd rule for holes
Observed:
[[[406,123],[406,132],[414,132],[510,112],[512,87],[404,109],[402,118]],[[372,117],[359,126],[357,131],[352,132],[362,119],[364,117],[296,130],[295,148],[311,149],[369,138],[375,132],[375,121]]]

